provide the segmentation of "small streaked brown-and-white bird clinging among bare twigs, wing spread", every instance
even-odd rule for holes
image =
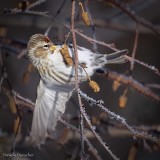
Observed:
[[[74,64],[67,65],[60,53],[62,45],[54,45],[45,35],[35,34],[30,37],[27,50],[30,62],[40,74],[37,99],[33,113],[30,143],[40,146],[47,137],[52,137],[59,117],[65,112],[65,106],[75,88]],[[74,62],[72,45],[68,48]],[[87,80],[97,69],[111,63],[126,62],[127,50],[109,55],[96,54],[78,46],[79,82]],[[81,64],[85,64],[85,71]]]

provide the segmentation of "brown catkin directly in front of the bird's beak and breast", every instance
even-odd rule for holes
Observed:
[[[63,45],[63,47],[60,49],[60,53],[62,54],[64,61],[67,65],[72,66],[73,60],[72,57],[69,54],[68,46],[66,44]]]

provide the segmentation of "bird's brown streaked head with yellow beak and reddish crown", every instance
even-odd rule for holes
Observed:
[[[52,54],[56,46],[52,41],[45,35],[34,34],[30,37],[27,50],[29,57],[35,58],[46,58],[48,54]]]

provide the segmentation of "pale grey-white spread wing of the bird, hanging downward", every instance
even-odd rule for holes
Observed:
[[[41,80],[37,89],[37,99],[33,113],[29,143],[40,146],[53,134],[59,116],[65,112],[65,105],[70,97],[69,92],[58,88],[48,88]]]

